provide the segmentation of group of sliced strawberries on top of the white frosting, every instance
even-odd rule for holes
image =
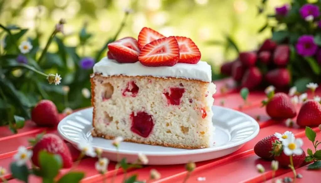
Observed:
[[[165,37],[157,31],[144,27],[138,40],[125,37],[108,44],[107,57],[119,63],[139,61],[149,67],[173,66],[176,63],[196,64],[201,52],[187,37]]]

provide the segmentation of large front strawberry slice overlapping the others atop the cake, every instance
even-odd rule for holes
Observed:
[[[152,41],[141,50],[138,60],[149,67],[173,66],[179,59],[179,47],[174,36]]]

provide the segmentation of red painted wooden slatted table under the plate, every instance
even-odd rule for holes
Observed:
[[[313,145],[308,141],[308,138],[305,137],[305,129],[299,128],[294,125],[293,128],[286,127],[283,122],[277,122],[270,120],[270,118],[265,113],[264,108],[260,108],[261,101],[265,98],[263,92],[252,92],[248,96],[249,105],[240,108],[239,106],[243,104],[243,101],[235,88],[233,88],[233,81],[231,79],[223,79],[220,81],[214,82],[217,85],[217,93],[214,95],[215,101],[214,105],[221,105],[224,101],[224,106],[233,108],[235,110],[242,111],[255,119],[257,116],[260,116],[258,123],[260,125],[259,134],[249,142],[247,142],[241,149],[236,151],[233,154],[205,161],[197,162],[196,169],[192,172],[188,183],[196,182],[246,182],[246,183],[255,183],[263,182],[262,174],[259,174],[256,170],[256,164],[260,163],[265,167],[265,177],[267,182],[272,180],[272,171],[270,169],[271,162],[264,161],[260,159],[256,154],[254,154],[253,147],[254,145],[261,140],[262,138],[272,135],[275,132],[283,133],[286,130],[292,131],[296,137],[301,137],[304,141],[303,149],[304,151],[307,148],[313,149]],[[317,94],[321,96],[321,91],[317,91]],[[299,107],[297,110],[299,111]],[[64,116],[61,115],[61,118]],[[33,122],[27,121],[26,126],[23,129],[20,129],[18,134],[12,134],[7,127],[0,127],[0,167],[4,167],[9,171],[9,164],[13,161],[13,155],[17,152],[18,146],[29,146],[28,139],[35,137],[37,134],[46,130],[47,133],[58,134],[56,129],[48,129],[43,127],[37,127]],[[317,131],[317,139],[321,141],[321,134],[317,128],[314,128]],[[79,151],[71,146],[70,143],[66,142],[68,147],[71,149],[74,162],[76,161]],[[30,146],[29,146],[30,147]],[[85,177],[82,180],[83,183],[91,182],[102,182],[101,175],[95,170],[95,162],[97,158],[85,157],[80,161],[75,170],[85,172]],[[159,180],[153,181],[155,183],[176,183],[182,182],[184,177],[187,174],[187,171],[184,168],[184,165],[171,165],[171,166],[144,166],[141,169],[130,170],[127,174],[127,177],[137,174],[139,180],[147,180],[149,178],[150,170],[156,169],[160,172],[161,178]],[[61,173],[63,174],[63,170]],[[318,179],[321,171],[310,171],[307,170],[307,164],[303,164],[301,167],[297,168],[297,173],[303,175],[302,179],[296,179],[296,182],[319,182]],[[107,182],[110,182],[110,179],[115,174],[115,163],[110,162],[108,165],[108,172],[105,174],[107,177]],[[285,176],[293,177],[292,172],[289,169],[279,168],[276,171],[277,179],[282,179]],[[8,172],[5,176],[8,179],[9,183],[20,182],[19,180],[13,179]],[[200,181],[198,178],[203,178],[205,180]],[[122,171],[117,171],[116,183],[120,183],[123,179]],[[1,180],[0,180],[1,182]],[[31,183],[40,183],[41,180],[37,177],[30,177],[29,182]]]

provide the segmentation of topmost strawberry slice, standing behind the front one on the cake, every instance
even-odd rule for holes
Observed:
[[[143,47],[145,45],[147,45],[148,43],[152,42],[152,41],[155,41],[157,39],[160,39],[160,38],[163,38],[165,36],[161,35],[159,32],[153,30],[153,29],[150,29],[150,28],[147,28],[147,27],[144,27],[140,32],[139,32],[139,35],[138,35],[138,45],[139,45],[139,48],[140,49],[143,49]]]

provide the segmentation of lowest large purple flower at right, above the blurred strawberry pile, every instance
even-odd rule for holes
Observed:
[[[299,37],[295,47],[298,54],[301,56],[312,56],[318,49],[318,46],[314,43],[313,36],[311,35],[303,35]]]

